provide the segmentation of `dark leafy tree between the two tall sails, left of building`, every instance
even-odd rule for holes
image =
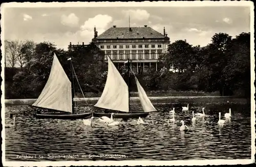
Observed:
[[[104,88],[107,63],[104,62],[104,52],[94,43],[78,45],[69,49],[68,57],[72,58],[74,70],[82,90],[100,92]],[[97,75],[95,75],[97,74]],[[75,84],[76,92],[80,92]]]

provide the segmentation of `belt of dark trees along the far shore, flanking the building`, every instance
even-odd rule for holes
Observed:
[[[94,43],[76,45],[69,50],[57,49],[53,43],[33,41],[5,41],[5,96],[6,98],[37,98],[44,88],[56,53],[63,69],[71,75],[72,63],[83,92],[102,92],[108,65],[104,52]],[[207,46],[192,46],[186,40],[169,44],[159,58],[160,69],[137,74],[145,91],[204,91],[220,95],[250,96],[250,33],[232,38],[215,34]],[[125,66],[119,69],[127,81]],[[130,90],[137,91],[133,74]],[[81,96],[75,82],[76,96]]]

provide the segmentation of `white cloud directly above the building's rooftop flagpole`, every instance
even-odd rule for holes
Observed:
[[[122,10],[122,13],[124,14],[125,17],[129,17],[131,20],[135,21],[142,21],[142,20],[148,20],[150,18],[150,13],[148,13],[146,10]]]

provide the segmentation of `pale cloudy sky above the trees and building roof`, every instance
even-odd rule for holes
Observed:
[[[50,41],[67,50],[72,44],[88,44],[113,25],[150,26],[173,43],[186,40],[205,46],[215,33],[232,37],[250,32],[250,8],[232,7],[51,7],[5,8],[4,37],[7,40]]]

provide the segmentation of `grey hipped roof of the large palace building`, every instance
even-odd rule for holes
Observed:
[[[96,39],[139,39],[139,38],[165,38],[161,33],[151,27],[111,27]]]

